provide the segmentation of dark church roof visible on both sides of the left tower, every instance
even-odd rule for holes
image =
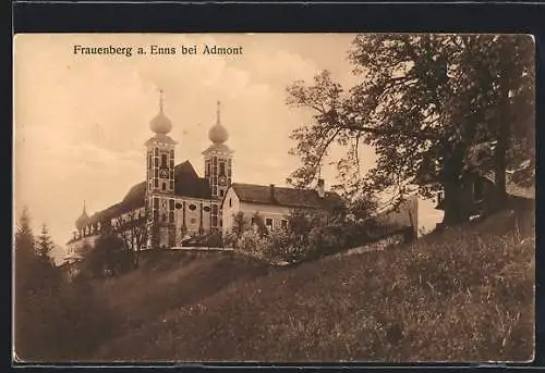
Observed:
[[[190,161],[178,164],[174,167],[174,194],[180,197],[210,198],[210,187],[208,181],[198,177]],[[121,202],[110,206],[90,216],[92,223],[97,223],[102,219],[111,219],[122,213],[132,211],[144,206],[146,196],[146,182],[134,185]]]

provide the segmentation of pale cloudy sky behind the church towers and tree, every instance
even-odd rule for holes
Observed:
[[[89,215],[117,203],[145,178],[144,142],[159,89],[178,141],[177,163],[203,175],[201,152],[216,121],[234,150],[233,182],[286,185],[299,165],[290,133],[312,121],[286,104],[286,87],[329,70],[344,88],[358,83],[347,59],[353,34],[27,34],[14,41],[14,214],[29,210],[62,248],[85,200]],[[74,46],[132,47],[133,55],[74,54]],[[239,55],[202,54],[204,46],[242,47]],[[152,46],[175,54],[150,54]],[[197,54],[181,54],[196,46]],[[136,54],[143,47],[147,54]],[[335,157],[335,153],[334,156]],[[363,171],[374,165],[361,149]],[[323,171],[335,184],[332,167]],[[419,225],[440,220],[420,203]],[[59,253],[62,254],[62,253]]]

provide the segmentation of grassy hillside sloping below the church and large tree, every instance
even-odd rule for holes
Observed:
[[[140,327],[94,359],[529,360],[534,243],[501,214],[414,246],[289,270],[164,257],[104,285]]]

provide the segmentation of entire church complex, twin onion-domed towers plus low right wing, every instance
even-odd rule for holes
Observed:
[[[85,203],[68,243],[68,257],[92,248],[100,234],[114,232],[133,250],[182,246],[189,236],[211,232],[226,235],[233,229],[233,216],[258,213],[270,229],[288,228],[293,209],[329,211],[340,197],[325,191],[320,179],[316,190],[233,184],[233,151],[226,145],[229,134],[221,124],[220,103],[216,124],[209,129],[209,147],[203,151],[204,177],[190,161],[174,164],[177,141],[169,136],[172,122],[165,113],[162,92],[159,112],[150,121],[154,135],[145,142],[146,178],[134,185],[124,198],[93,215]]]

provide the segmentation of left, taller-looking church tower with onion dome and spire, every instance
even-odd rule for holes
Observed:
[[[174,147],[168,136],[172,122],[165,114],[162,90],[159,113],[149,123],[155,133],[146,141],[146,211],[148,247],[170,248],[174,245]]]

